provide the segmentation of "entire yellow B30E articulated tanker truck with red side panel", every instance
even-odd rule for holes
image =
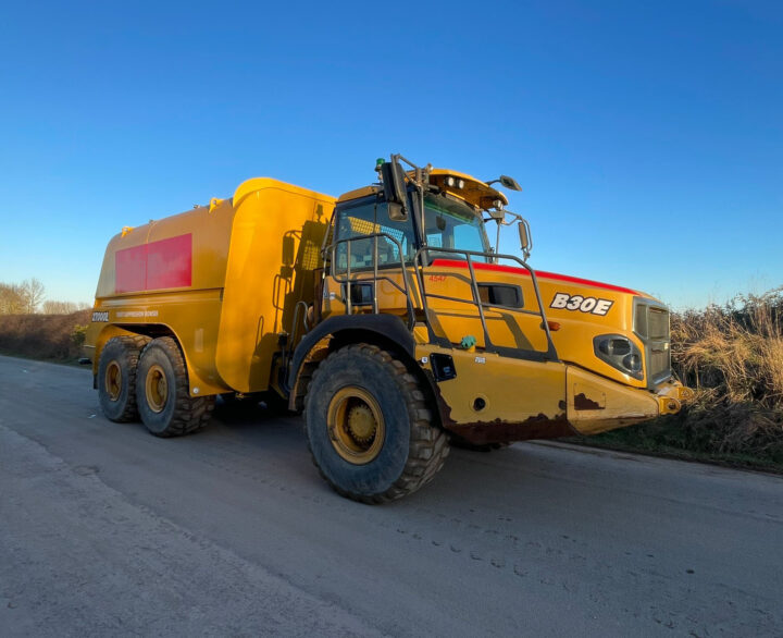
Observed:
[[[326,481],[381,503],[450,444],[592,434],[691,396],[663,304],[531,268],[530,226],[493,186],[514,180],[401,156],[376,172],[337,199],[253,179],[114,236],[87,333],[105,416],[172,437],[217,395],[277,397]],[[499,251],[504,226],[519,255]]]

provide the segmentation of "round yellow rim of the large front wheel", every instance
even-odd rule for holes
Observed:
[[[383,447],[386,427],[381,406],[362,388],[349,385],[332,397],[326,425],[332,445],[348,463],[370,463]]]

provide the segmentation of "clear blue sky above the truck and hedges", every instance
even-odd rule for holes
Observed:
[[[783,284],[779,3],[21,3],[0,21],[0,281],[268,175],[402,152],[514,176],[531,263],[678,308]],[[505,246],[512,249],[512,237]]]

